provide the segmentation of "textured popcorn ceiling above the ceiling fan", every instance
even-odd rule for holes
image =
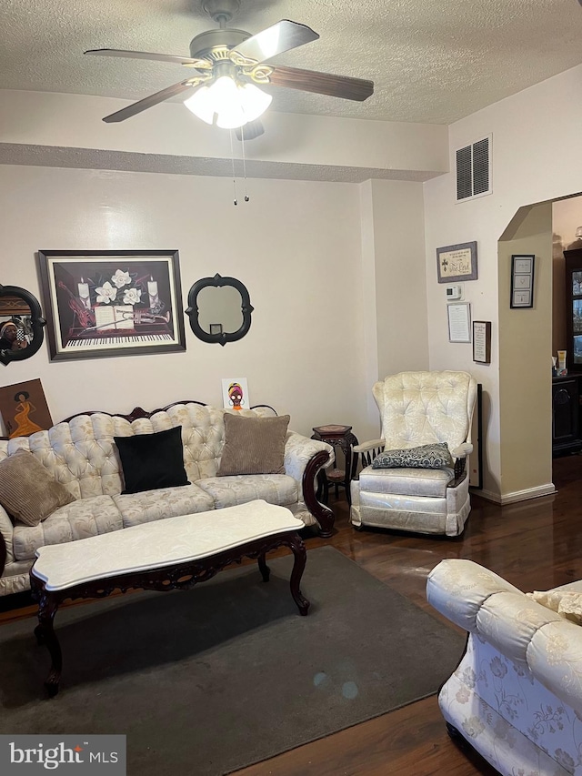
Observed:
[[[273,64],[368,78],[376,90],[355,103],[272,87],[282,112],[450,124],[582,63],[577,0],[242,0],[229,26],[255,34],[284,18],[321,37]],[[0,26],[0,88],[130,100],[184,68],[85,49],[188,55],[216,28],[199,0],[2,0]]]

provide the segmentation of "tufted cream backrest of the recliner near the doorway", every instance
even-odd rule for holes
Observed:
[[[470,437],[477,382],[467,372],[400,372],[372,393],[386,450],[447,442],[452,451]]]

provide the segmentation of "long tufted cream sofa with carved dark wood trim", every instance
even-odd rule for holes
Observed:
[[[186,401],[147,413],[93,412],[77,415],[30,437],[0,440],[0,459],[16,450],[31,451],[63,483],[75,501],[37,526],[13,524],[0,507],[0,595],[27,590],[35,550],[45,544],[85,539],[150,520],[221,509],[264,499],[286,507],[306,526],[330,536],[334,515],[316,500],[317,471],[331,462],[333,448],[288,431],[285,474],[216,477],[228,410]],[[268,414],[242,410],[242,415]],[[115,436],[151,434],[182,427],[184,465],[190,485],[122,494],[123,479]]]

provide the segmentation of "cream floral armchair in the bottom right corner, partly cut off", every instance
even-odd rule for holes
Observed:
[[[582,627],[537,601],[574,599],[580,621],[582,581],[531,595],[471,560],[430,572],[427,600],[468,632],[438,703],[451,735],[504,776],[580,776]]]

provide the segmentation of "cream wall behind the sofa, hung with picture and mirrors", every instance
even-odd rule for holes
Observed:
[[[248,335],[209,345],[187,326],[185,353],[1,367],[0,385],[41,378],[54,421],[183,398],[222,404],[221,378],[246,377],[253,403],[364,434],[358,186],[249,180],[233,205],[226,178],[0,166],[0,282],[42,299],[35,252],[178,249],[183,307],[200,277],[239,278],[255,307]],[[341,325],[339,315],[345,312]],[[368,388],[369,390],[369,388]]]

